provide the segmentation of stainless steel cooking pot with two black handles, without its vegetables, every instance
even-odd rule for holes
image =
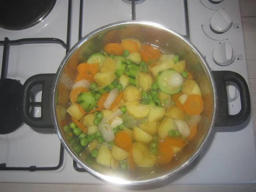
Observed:
[[[137,38],[143,43],[179,55],[186,60],[186,67],[200,87],[204,100],[204,111],[198,132],[182,152],[166,166],[138,168],[134,172],[117,172],[89,165],[70,146],[63,130],[70,123],[66,109],[70,105],[69,92],[76,78],[76,67],[85,62],[91,54],[100,52],[108,43],[120,43],[125,38]],[[229,115],[226,82],[233,81],[239,87],[241,111]],[[42,116],[32,117],[29,113],[29,93],[36,84],[43,84]],[[211,71],[204,56],[183,35],[157,23],[145,21],[125,21],[103,26],[82,38],[67,53],[56,74],[38,74],[24,84],[22,117],[26,124],[38,128],[55,128],[62,145],[70,156],[88,172],[113,183],[143,184],[153,183],[175,175],[198,156],[208,142],[215,126],[234,126],[243,123],[250,115],[250,93],[246,81],[232,71]]]

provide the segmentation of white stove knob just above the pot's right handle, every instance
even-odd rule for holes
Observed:
[[[235,60],[235,52],[229,41],[221,43],[215,47],[212,53],[215,63],[227,66]]]

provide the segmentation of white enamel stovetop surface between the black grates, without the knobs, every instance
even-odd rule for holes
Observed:
[[[59,3],[60,0],[57,0]],[[61,1],[63,4],[60,6],[66,7],[67,0]],[[95,4],[93,3],[95,2]],[[84,24],[83,35],[86,35],[92,30],[119,20],[131,20],[131,7],[128,4],[124,4],[122,0],[106,0],[106,1],[84,1]],[[173,2],[177,9],[171,9],[172,15],[184,15],[183,7],[178,6],[183,1],[170,0],[170,1],[153,1],[146,0],[144,8],[150,8],[149,4],[158,3],[155,5],[163,6],[170,5]],[[164,3],[163,3],[164,2]],[[203,4],[201,4],[201,2]],[[189,6],[189,26],[190,37],[193,44],[206,56],[207,62],[212,70],[232,70],[240,73],[248,83],[247,64],[244,50],[243,33],[241,29],[241,17],[239,13],[239,1],[238,0],[224,0],[221,3],[213,4],[209,0],[188,0]],[[112,4],[111,4],[112,3]],[[143,4],[136,5],[137,20],[140,18],[140,14],[148,14],[147,9],[142,9]],[[166,3],[166,4],[165,4]],[[96,5],[98,4],[98,5]],[[182,3],[181,3],[182,4]],[[111,6],[108,6],[111,5]],[[104,7],[108,9],[105,11]],[[113,14],[113,10],[118,12]],[[170,10],[163,8],[162,10]],[[170,6],[169,6],[170,7]],[[208,8],[207,8],[208,7]],[[91,10],[90,10],[91,8]],[[95,9],[99,9],[103,17],[95,14]],[[113,9],[112,9],[113,8]],[[209,21],[211,16],[218,10],[223,9],[230,13],[230,17],[233,20],[232,27],[223,34],[215,34],[210,29],[205,29],[205,33],[202,31],[201,24],[209,27]],[[94,9],[94,10],[93,10]],[[141,10],[140,10],[141,9]],[[160,8],[159,8],[160,9]],[[54,9],[53,9],[54,10]],[[57,9],[56,9],[57,10]],[[122,10],[122,12],[119,12]],[[140,13],[138,12],[140,10]],[[156,13],[157,13],[156,9]],[[179,10],[179,12],[176,12]],[[57,10],[58,11],[58,10]],[[71,45],[73,46],[78,41],[78,21],[79,21],[79,1],[73,1],[72,4],[72,33],[71,33]],[[181,14],[182,12],[182,14]],[[159,13],[159,11],[158,11]],[[27,32],[9,32],[7,35],[11,39],[19,39],[28,37],[29,33],[34,35],[33,37],[56,37],[66,42],[67,33],[67,12],[58,11],[58,14],[63,15],[60,18],[47,17],[45,20],[49,20],[52,24],[47,25],[45,28],[38,32],[26,29]],[[58,15],[57,14],[57,15]],[[65,15],[66,14],[66,15]],[[163,13],[166,15],[167,13]],[[92,16],[93,15],[93,16]],[[158,14],[159,15],[159,14]],[[86,18],[85,18],[86,17]],[[162,16],[159,17],[163,18]],[[172,17],[169,17],[172,18]],[[185,28],[183,21],[180,21],[182,17],[175,17],[179,20],[181,25],[175,27],[173,23],[176,21],[169,19],[169,23],[162,23],[178,32],[184,34]],[[60,19],[60,20],[59,20]],[[93,22],[91,21],[93,19]],[[143,18],[141,18],[143,19]],[[55,21],[58,20],[59,23]],[[147,20],[146,17],[144,20]],[[148,20],[152,20],[150,17]],[[156,20],[155,20],[156,21]],[[162,21],[167,21],[166,17]],[[50,23],[51,23],[50,22]],[[86,22],[86,23],[85,23]],[[48,31],[49,26],[58,26],[63,23],[65,29],[55,29]],[[159,23],[161,23],[159,21]],[[206,25],[207,23],[207,25]],[[235,25],[234,25],[235,24]],[[39,27],[34,26],[35,28]],[[62,26],[62,25],[61,25]],[[239,28],[237,28],[239,26]],[[236,29],[234,28],[236,27]],[[32,28],[31,28],[32,29]],[[0,29],[0,31],[3,29]],[[55,34],[55,35],[51,35]],[[0,32],[0,41],[3,41],[6,34]],[[16,36],[14,35],[16,34]],[[208,35],[208,36],[207,36]],[[220,39],[226,39],[232,44],[234,51],[236,52],[236,58],[234,62],[228,66],[220,66],[216,64],[212,59],[212,52],[215,47],[219,45],[216,41]],[[215,39],[215,40],[213,40]],[[0,58],[3,55],[3,47],[0,46]],[[19,79],[21,83],[32,75],[38,73],[55,73],[61,60],[65,55],[65,49],[61,45],[55,44],[30,44],[22,46],[12,46],[10,48],[9,58],[9,71],[8,77]],[[237,58],[240,58],[237,60]],[[1,66],[2,62],[0,62]],[[38,88],[39,90],[39,88]],[[34,90],[36,92],[36,89]],[[236,95],[236,91],[235,91]],[[36,101],[40,101],[41,93],[36,94]],[[230,88],[230,97],[233,98],[234,90]],[[230,114],[236,114],[240,111],[241,102],[239,97],[229,103]],[[40,112],[35,111],[37,116],[40,116]],[[248,119],[243,125],[233,127],[233,129],[241,128],[240,131],[225,132],[227,128],[218,128],[216,133],[212,134],[207,146],[201,152],[191,165],[183,172],[178,173],[174,177],[167,179],[166,184],[216,184],[216,183],[253,183],[256,181],[256,149],[254,144],[253,134],[253,121],[252,118]],[[56,166],[59,158],[60,142],[56,134],[43,134],[42,130],[30,128],[27,125],[23,125],[22,128],[8,135],[0,135],[0,163],[7,163],[7,166]],[[222,130],[224,132],[217,132]],[[24,140],[25,139],[25,140]],[[39,151],[39,152],[38,152]],[[69,154],[65,151],[64,164],[61,169],[56,171],[43,171],[43,172],[27,172],[27,171],[0,171],[0,182],[16,182],[16,183],[81,183],[81,184],[104,184],[102,180],[96,178],[88,172],[77,172],[73,168],[73,160]],[[156,184],[157,185],[157,184]],[[162,185],[162,184],[161,184]]]

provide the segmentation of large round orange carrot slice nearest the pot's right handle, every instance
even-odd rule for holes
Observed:
[[[200,95],[192,94],[188,96],[183,107],[189,115],[198,115],[204,109],[204,101]]]

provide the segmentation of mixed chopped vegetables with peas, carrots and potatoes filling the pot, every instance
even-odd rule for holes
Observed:
[[[167,164],[195,137],[204,102],[178,55],[125,39],[77,71],[64,132],[87,163],[122,170]]]

